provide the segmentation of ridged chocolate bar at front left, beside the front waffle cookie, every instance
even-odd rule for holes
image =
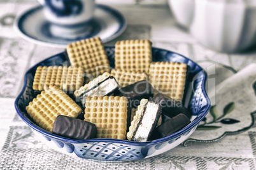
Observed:
[[[74,140],[86,140],[96,138],[97,128],[91,122],[58,115],[54,121],[52,133]]]

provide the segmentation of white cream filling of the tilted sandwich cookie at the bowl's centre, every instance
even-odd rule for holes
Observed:
[[[90,91],[88,91],[87,93],[85,93],[82,97],[83,97],[83,105],[85,104],[85,100],[88,96],[104,96],[108,93],[110,93],[111,91],[113,91],[113,89],[117,88],[118,84],[115,81],[115,79],[108,79],[106,81],[104,81],[103,83],[99,84],[99,86],[97,86],[94,89],[91,89]]]

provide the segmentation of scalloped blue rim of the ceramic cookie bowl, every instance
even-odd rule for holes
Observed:
[[[105,48],[113,48],[113,46],[104,46]],[[166,50],[166,49],[161,49],[161,48],[153,48],[152,49],[160,49],[161,51],[168,51],[168,52],[171,52],[171,53],[175,53],[173,51],[169,51],[169,50]],[[49,60],[50,58],[53,58],[55,56],[58,56],[62,53],[65,53],[64,52],[61,52],[61,53],[58,53],[56,55],[53,55],[53,56],[50,56],[48,58],[46,58],[45,60],[41,60],[41,62],[38,62],[36,63],[36,65],[32,66],[29,70],[27,70],[27,72],[25,73],[25,76],[24,76],[24,86],[22,87],[22,91],[20,92],[20,94],[17,96],[16,100],[15,100],[15,109],[17,111],[17,114],[20,116],[20,118],[22,119],[22,121],[24,121],[30,128],[38,131],[39,133],[41,134],[44,134],[45,136],[48,136],[50,138],[54,138],[56,140],[60,140],[60,141],[65,141],[67,143],[87,143],[87,142],[99,142],[99,141],[102,141],[102,142],[116,142],[116,143],[124,143],[126,145],[139,145],[139,146],[143,146],[143,145],[155,145],[155,144],[158,144],[158,143],[162,143],[162,142],[165,142],[165,141],[169,141],[169,140],[172,140],[173,138],[176,138],[178,136],[180,136],[181,134],[184,134],[186,133],[187,131],[190,131],[190,129],[194,128],[195,126],[197,126],[199,124],[200,121],[202,121],[202,119],[206,116],[206,114],[208,114],[208,111],[210,110],[210,99],[205,91],[205,86],[206,86],[206,79],[207,79],[207,74],[206,72],[204,71],[204,69],[202,69],[202,67],[200,67],[196,62],[188,59],[187,57],[183,56],[183,55],[180,55],[178,53],[175,53],[177,55],[180,55],[182,56],[183,58],[187,59],[187,60],[190,60],[190,62],[192,63],[195,63],[200,69],[201,71],[199,72],[202,72],[203,71],[203,74],[204,74],[204,78],[203,78],[203,86],[202,86],[202,90],[204,91],[203,92],[203,95],[204,97],[206,98],[206,101],[208,103],[208,108],[205,108],[204,110],[204,113],[202,113],[199,116],[197,116],[192,122],[190,122],[190,124],[188,124],[185,128],[182,128],[180,129],[179,131],[169,135],[169,136],[166,136],[164,138],[159,138],[157,140],[152,140],[152,141],[145,141],[145,142],[137,142],[137,141],[129,141],[129,140],[118,140],[118,139],[110,139],[110,138],[93,138],[93,139],[87,139],[87,140],[73,140],[73,139],[69,139],[69,138],[64,138],[62,136],[58,136],[56,134],[53,134],[53,133],[50,133],[48,131],[45,131],[44,129],[41,129],[39,128],[39,126],[37,126],[36,124],[34,124],[33,122],[29,121],[29,119],[27,119],[23,114],[22,112],[20,111],[20,109],[18,108],[18,100],[20,100],[20,97],[23,95],[24,91],[25,91],[25,88],[27,86],[27,74],[29,74],[31,72],[32,69],[34,69],[35,67],[38,67],[41,63],[45,62],[46,60]],[[197,73],[199,73],[197,72]],[[206,105],[207,106],[207,105]]]

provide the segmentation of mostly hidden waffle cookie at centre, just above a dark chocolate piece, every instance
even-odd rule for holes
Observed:
[[[128,86],[138,81],[143,81],[143,80],[148,81],[148,76],[145,73],[139,72],[139,71],[136,72],[135,70],[129,71],[129,70],[113,69],[111,70],[111,75],[115,77],[115,79],[117,80],[118,84],[121,87]]]

